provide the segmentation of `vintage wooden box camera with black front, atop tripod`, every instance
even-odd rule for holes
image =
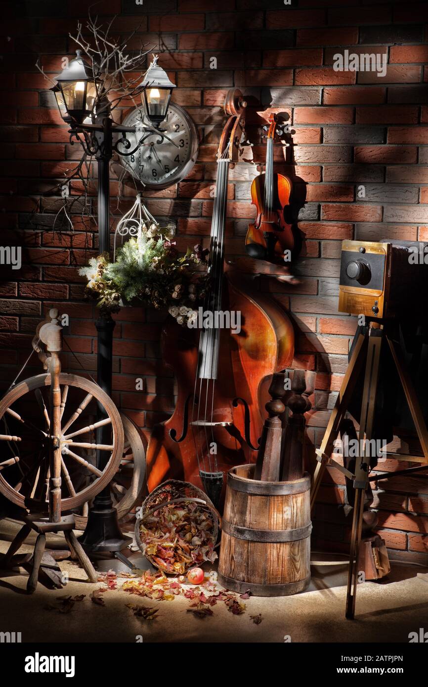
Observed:
[[[343,241],[339,311],[383,318],[419,310],[428,272],[425,248],[419,241]]]

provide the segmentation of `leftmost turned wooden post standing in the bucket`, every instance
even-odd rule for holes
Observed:
[[[284,396],[284,372],[275,372],[269,387],[271,401],[264,406],[269,413],[269,417],[264,420],[262,438],[258,449],[255,480],[263,482],[278,482],[280,475],[280,456],[282,422],[280,415],[284,412],[285,406],[282,402]]]

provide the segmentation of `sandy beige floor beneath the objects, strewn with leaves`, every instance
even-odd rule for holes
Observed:
[[[7,550],[18,528],[12,521],[0,522],[0,552]],[[60,535],[48,535],[49,541],[62,548]],[[26,544],[20,552],[30,550]],[[344,566],[314,567],[311,587],[304,594],[253,596],[240,616],[218,603],[214,615],[203,619],[188,613],[190,602],[179,596],[156,602],[118,589],[104,594],[105,606],[95,605],[88,597],[101,583],[87,583],[85,573],[71,561],[61,561],[60,567],[69,574],[67,586],[58,590],[39,584],[32,596],[25,592],[23,569],[0,571],[0,631],[21,631],[22,642],[135,642],[138,635],[144,642],[284,642],[289,635],[292,642],[407,643],[409,632],[427,626],[428,582],[417,576],[424,572],[418,567],[396,565],[388,581],[359,585],[354,621],[344,618]],[[87,598],[69,613],[45,609],[57,606],[59,596],[77,594]],[[153,621],[137,618],[127,603],[157,606],[159,613]],[[250,615],[258,613],[262,622],[257,625]]]

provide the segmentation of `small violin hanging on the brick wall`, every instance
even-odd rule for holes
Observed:
[[[269,116],[266,146],[266,171],[251,183],[251,201],[257,215],[248,225],[245,249],[251,258],[284,262],[284,251],[294,247],[291,225],[286,223],[284,207],[289,205],[291,180],[273,172],[273,140],[278,126],[277,115]]]

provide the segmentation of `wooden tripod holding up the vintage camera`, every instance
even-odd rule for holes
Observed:
[[[327,465],[334,465],[335,468],[350,480],[354,482],[355,501],[354,501],[354,515],[352,520],[352,534],[350,543],[350,563],[348,571],[348,589],[346,592],[346,618],[354,618],[355,613],[355,597],[357,593],[358,582],[358,561],[359,550],[361,544],[361,530],[363,525],[363,509],[364,509],[364,493],[365,488],[369,482],[382,479],[383,477],[392,478],[396,475],[403,475],[405,473],[412,473],[415,471],[425,470],[428,468],[428,432],[425,425],[423,414],[420,410],[418,400],[412,380],[405,368],[401,348],[390,337],[388,333],[389,322],[387,320],[376,319],[375,322],[370,322],[368,328],[361,331],[355,343],[354,351],[348,365],[348,370],[343,379],[339,396],[333,412],[330,416],[321,447],[317,449],[317,467],[313,477],[313,486],[311,490],[311,508],[315,505],[319,485],[322,481],[322,476]],[[386,341],[392,353],[396,370],[405,393],[409,410],[412,414],[418,439],[422,447],[422,455],[403,455],[397,453],[389,453],[396,460],[406,460],[411,462],[424,463],[424,465],[415,468],[408,468],[406,470],[397,471],[396,473],[377,474],[375,477],[370,477],[370,455],[367,452],[367,442],[373,435],[374,410],[376,403],[376,390],[379,380],[379,362],[381,359],[381,347],[383,341]],[[345,418],[350,398],[354,393],[354,388],[359,379],[361,371],[365,367],[363,396],[361,401],[361,416],[358,434],[359,453],[355,461],[354,474],[345,467],[339,465],[333,458],[331,453],[333,451],[335,440],[339,434],[341,423]]]

